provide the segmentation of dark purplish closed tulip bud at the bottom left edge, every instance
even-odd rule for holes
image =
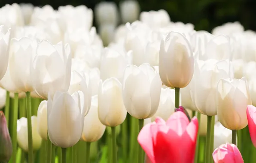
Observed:
[[[7,128],[6,119],[0,111],[0,162],[8,162],[12,156],[12,141]]]

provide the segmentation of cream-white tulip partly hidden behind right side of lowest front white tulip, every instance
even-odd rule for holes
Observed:
[[[103,136],[106,126],[98,118],[98,95],[91,97],[91,108],[85,116],[81,140],[95,142]]]

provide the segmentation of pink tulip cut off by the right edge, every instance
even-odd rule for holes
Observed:
[[[248,120],[250,137],[254,147],[256,148],[256,107],[248,105],[246,115]]]

